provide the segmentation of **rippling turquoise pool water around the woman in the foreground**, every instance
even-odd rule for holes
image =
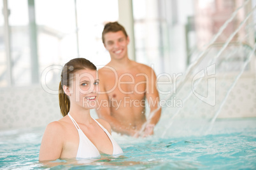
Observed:
[[[114,133],[123,156],[55,160],[51,166],[38,162],[45,128],[1,131],[0,169],[256,169],[256,119],[215,123],[206,135],[135,139]]]

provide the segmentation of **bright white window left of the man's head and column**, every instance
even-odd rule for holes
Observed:
[[[48,70],[46,83],[57,84],[58,68],[78,56],[95,65],[110,61],[101,32],[104,23],[118,20],[117,0],[4,2],[7,4],[0,0],[0,9],[9,9],[10,16],[0,14],[0,88],[39,84],[44,70]],[[7,29],[4,16],[8,18]],[[52,65],[60,67],[54,69]]]

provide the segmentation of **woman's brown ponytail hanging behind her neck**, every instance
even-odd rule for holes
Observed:
[[[61,86],[61,81],[59,84],[59,105],[60,105],[60,112],[62,116],[68,115],[69,108],[70,108],[70,101],[68,96],[64,93],[64,90]]]

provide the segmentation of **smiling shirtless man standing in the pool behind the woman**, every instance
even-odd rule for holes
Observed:
[[[148,136],[160,119],[159,93],[151,67],[129,60],[129,37],[118,22],[107,23],[102,33],[104,47],[111,61],[99,69],[100,95],[97,115],[113,131],[129,136]],[[145,116],[145,99],[150,119]]]

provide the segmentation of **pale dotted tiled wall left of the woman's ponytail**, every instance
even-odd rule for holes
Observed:
[[[0,129],[45,126],[61,114],[57,95],[46,93],[41,86],[0,90]]]

